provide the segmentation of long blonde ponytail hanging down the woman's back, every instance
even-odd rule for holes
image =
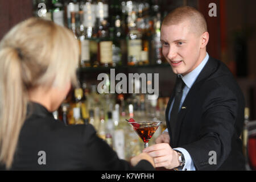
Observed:
[[[0,48],[0,162],[13,163],[20,129],[26,118],[27,90],[22,81],[22,55],[13,47]]]

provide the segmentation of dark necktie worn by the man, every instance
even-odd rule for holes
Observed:
[[[177,123],[177,115],[179,113],[180,101],[183,93],[183,88],[185,84],[183,80],[177,76],[176,86],[175,86],[175,95],[174,95],[174,105],[172,105],[171,115],[170,115],[170,124],[171,124],[171,140],[173,141],[175,136],[175,129]]]

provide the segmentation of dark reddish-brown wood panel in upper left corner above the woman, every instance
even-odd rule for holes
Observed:
[[[0,0],[0,39],[13,27],[32,16],[32,0]]]

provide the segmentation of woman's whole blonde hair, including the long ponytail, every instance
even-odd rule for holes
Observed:
[[[13,27],[0,42],[0,162],[13,163],[26,119],[28,90],[76,85],[79,45],[67,28],[39,18]]]

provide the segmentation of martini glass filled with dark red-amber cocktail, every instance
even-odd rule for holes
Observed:
[[[148,141],[158,129],[161,121],[146,121],[146,122],[129,122],[133,126],[134,131],[144,142],[144,148],[148,147]]]

